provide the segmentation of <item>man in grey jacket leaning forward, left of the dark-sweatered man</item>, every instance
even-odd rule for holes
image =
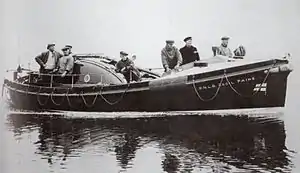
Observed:
[[[178,69],[181,65],[182,56],[179,50],[174,46],[173,40],[166,40],[166,46],[161,50],[161,61],[165,72]]]

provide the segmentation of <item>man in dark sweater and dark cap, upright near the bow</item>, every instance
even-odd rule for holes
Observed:
[[[180,49],[183,60],[182,65],[199,61],[200,57],[197,48],[192,45],[192,37],[186,37],[183,41],[185,42],[185,46]]]

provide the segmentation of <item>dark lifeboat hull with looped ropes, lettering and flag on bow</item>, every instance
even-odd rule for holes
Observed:
[[[284,107],[290,71],[272,72],[274,62],[247,66],[246,70],[234,68],[116,86],[42,88],[9,80],[5,85],[13,106],[28,110],[153,112]]]

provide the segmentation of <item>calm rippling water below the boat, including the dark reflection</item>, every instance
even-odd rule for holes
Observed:
[[[291,172],[295,153],[276,116],[282,113],[127,119],[10,113],[4,144],[13,153],[6,153],[4,170],[18,164],[30,173]]]

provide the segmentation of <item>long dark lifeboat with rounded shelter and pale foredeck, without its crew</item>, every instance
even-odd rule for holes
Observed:
[[[116,61],[92,54],[74,55],[68,83],[55,74],[41,82],[36,71],[14,72],[3,88],[13,108],[34,111],[200,111],[284,107],[288,58],[224,61],[214,56],[160,75],[138,68],[142,80],[127,83],[115,72]],[[3,92],[2,92],[3,94]]]

